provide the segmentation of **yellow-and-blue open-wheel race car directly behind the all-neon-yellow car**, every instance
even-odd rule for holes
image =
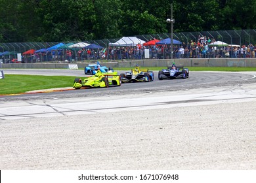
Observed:
[[[135,69],[131,69],[131,72],[121,73],[121,81],[122,82],[150,82],[154,80],[153,71],[148,71],[148,69],[140,69],[139,67],[135,67]]]

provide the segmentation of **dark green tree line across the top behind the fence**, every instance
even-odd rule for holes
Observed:
[[[255,29],[256,0],[0,0],[0,42]]]

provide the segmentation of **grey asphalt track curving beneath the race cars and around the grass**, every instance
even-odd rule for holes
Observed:
[[[75,78],[83,78],[85,75],[81,70],[56,70],[56,69],[5,69],[5,74],[17,74],[17,75],[60,75],[60,76],[74,76]],[[124,71],[118,71],[118,73],[124,73]],[[256,73],[256,72],[255,72]],[[53,93],[33,93],[33,95],[12,95],[9,100],[15,99],[30,99],[39,95],[58,96],[58,97],[80,97],[86,95],[119,95],[131,94],[131,93],[145,93],[145,92],[168,92],[168,91],[182,91],[198,88],[212,88],[212,87],[224,87],[224,86],[237,86],[238,84],[254,83],[255,73],[228,73],[228,72],[191,72],[188,79],[175,79],[175,80],[158,80],[158,71],[154,71],[153,82],[138,82],[138,83],[125,83],[121,87],[110,88],[92,88],[86,90],[73,90],[66,92],[53,92]],[[88,75],[87,75],[88,76]],[[70,81],[70,87],[72,87],[74,80]],[[2,97],[5,98],[5,97]],[[10,99],[11,98],[11,99]],[[0,97],[1,100],[1,97]]]

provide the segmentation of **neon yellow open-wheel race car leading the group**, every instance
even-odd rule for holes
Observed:
[[[95,75],[86,77],[84,80],[81,80],[81,78],[75,78],[73,88],[108,88],[108,86],[121,86],[121,77],[117,75],[117,72],[101,73],[101,71],[98,70]]]

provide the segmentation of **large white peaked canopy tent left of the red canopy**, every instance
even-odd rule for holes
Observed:
[[[137,44],[143,44],[143,41],[137,37],[122,37],[117,42],[110,42],[109,46],[137,46]]]

